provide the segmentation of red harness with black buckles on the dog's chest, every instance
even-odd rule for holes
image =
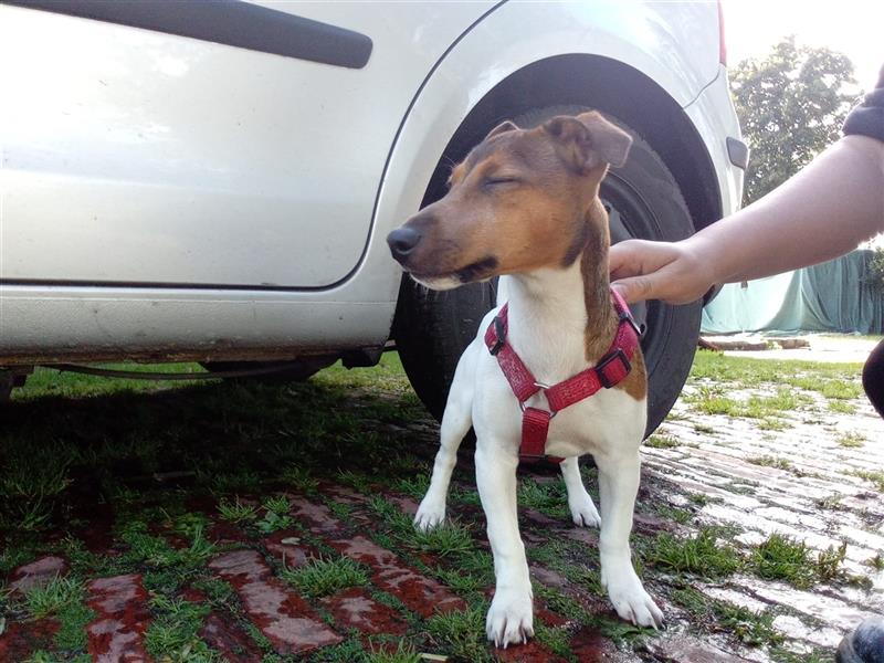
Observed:
[[[522,408],[519,457],[523,461],[535,462],[546,456],[549,421],[559,410],[589,398],[602,387],[610,389],[632,370],[630,359],[632,359],[635,348],[639,347],[641,333],[623,298],[617,292],[611,291],[611,299],[620,319],[611,347],[596,366],[551,387],[535,380],[532,371],[516,355],[513,346],[506,341],[508,304],[504,304],[497,317],[485,332],[485,345],[488,346],[488,351],[497,357],[501,370],[504,371]],[[549,411],[526,407],[525,401],[541,390],[549,402]],[[564,459],[550,456],[550,460],[560,463]]]

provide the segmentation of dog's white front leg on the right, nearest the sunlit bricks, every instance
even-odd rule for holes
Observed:
[[[601,497],[601,583],[617,613],[633,624],[662,627],[663,613],[642,587],[632,567],[629,535],[639,492],[639,452],[618,452],[596,456]]]

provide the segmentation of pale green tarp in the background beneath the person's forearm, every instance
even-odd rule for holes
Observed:
[[[704,334],[884,332],[884,294],[866,283],[872,251],[769,278],[726,285],[703,309]]]

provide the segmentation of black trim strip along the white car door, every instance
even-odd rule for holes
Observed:
[[[359,32],[242,0],[0,0],[0,3],[349,69],[362,69],[372,49],[371,39]]]

